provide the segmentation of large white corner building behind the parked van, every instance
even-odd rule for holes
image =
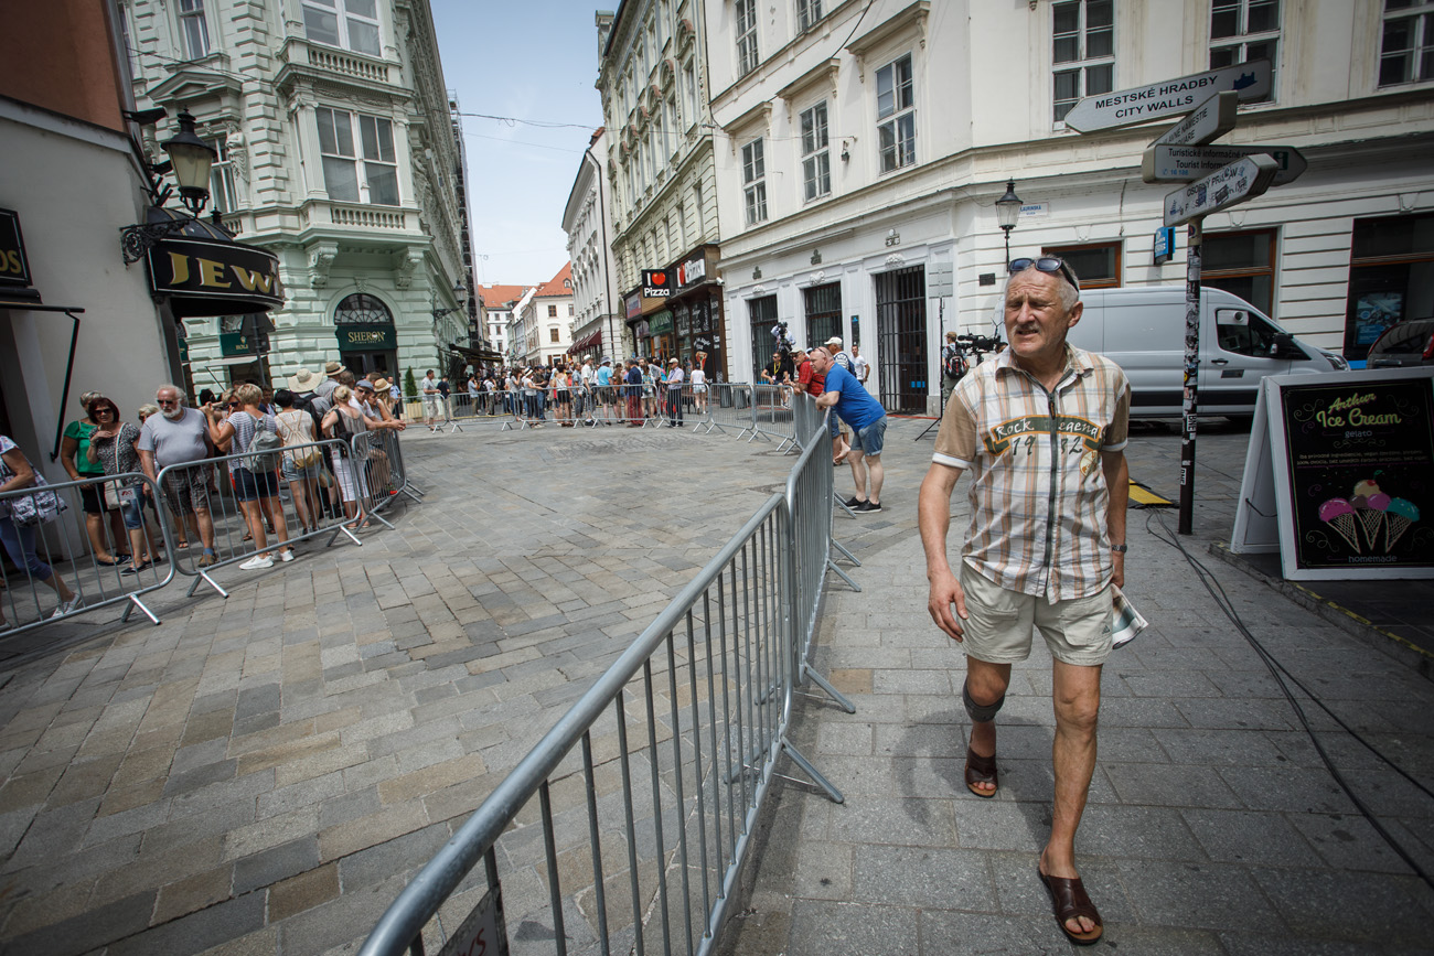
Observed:
[[[1176,186],[1141,182],[1170,122],[1078,135],[1086,95],[1268,57],[1273,92],[1220,143],[1309,169],[1205,222],[1205,282],[1358,361],[1434,308],[1434,6],[1382,0],[756,0],[711,3],[707,56],[731,365],[770,327],[859,341],[889,410],[939,404],[946,328],[989,330],[1005,251],[1087,287],[1179,284],[1153,234]],[[1421,158],[1424,156],[1424,158]],[[949,297],[935,297],[944,275]],[[1374,317],[1371,320],[1371,315]]]

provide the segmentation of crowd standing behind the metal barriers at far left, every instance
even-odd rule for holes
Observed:
[[[343,516],[350,527],[367,526],[363,487],[348,446],[353,436],[373,429],[406,427],[397,388],[377,373],[357,378],[337,361],[327,363],[323,373],[300,370],[281,386],[271,390],[239,383],[218,393],[204,388],[196,406],[189,406],[179,386],[163,384],[155,401],[139,406],[132,417],[99,391],[82,393],[80,416],[65,427],[59,462],[70,480],[86,482],[79,502],[89,560],[123,576],[139,575],[162,560],[156,519],[163,509],[176,549],[188,550],[196,542],[196,566],[219,563],[212,503],[221,480],[228,482],[238,503],[244,540],[254,543],[254,555],[239,565],[245,570],[294,558],[281,482],[288,486],[297,515],[295,533],[317,530],[326,516]],[[343,439],[344,446],[330,446],[326,456],[321,447],[313,447],[321,439]],[[209,460],[225,456],[241,457],[229,457],[217,473]],[[371,450],[364,464],[370,493],[393,490],[387,487],[390,466],[381,450]],[[165,483],[156,502],[152,486],[139,476],[158,483],[161,473]],[[32,457],[9,436],[0,436],[0,493],[43,486]],[[54,615],[62,616],[80,598],[39,558],[37,535],[40,525],[59,519],[66,506],[53,493],[36,490],[22,497],[20,505],[20,499],[0,497],[0,543],[29,580],[54,591]],[[37,500],[59,503],[49,513],[44,507],[36,513]]]

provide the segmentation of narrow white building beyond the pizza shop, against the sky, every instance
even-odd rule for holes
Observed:
[[[588,143],[562,212],[572,264],[572,345],[578,357],[632,354],[634,343],[619,314],[617,269],[612,265],[612,212],[608,193],[608,135],[598,129]]]

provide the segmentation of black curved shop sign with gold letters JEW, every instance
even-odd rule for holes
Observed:
[[[278,257],[242,242],[161,239],[149,249],[149,285],[176,318],[267,312],[284,304]]]

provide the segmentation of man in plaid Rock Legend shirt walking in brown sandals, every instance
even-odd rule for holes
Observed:
[[[967,654],[965,783],[977,797],[995,795],[995,714],[1011,664],[1030,655],[1032,628],[1051,651],[1055,800],[1037,873],[1061,932],[1093,943],[1101,920],[1076,870],[1076,828],[1096,768],[1111,585],[1124,580],[1130,386],[1110,360],[1067,345],[1081,310],[1065,262],[1011,262],[1010,348],[951,393],[921,486],[919,525],[928,611]],[[962,472],[972,476],[971,525],[956,575],[946,532]]]

